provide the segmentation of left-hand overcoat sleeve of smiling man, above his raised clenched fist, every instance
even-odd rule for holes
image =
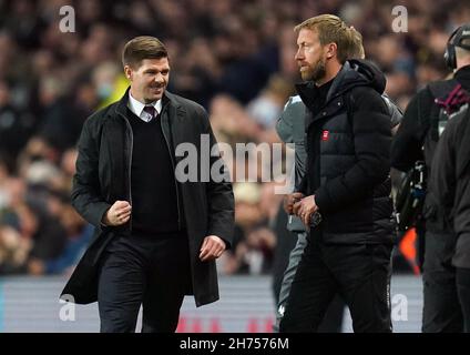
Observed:
[[[79,214],[96,227],[103,227],[101,220],[111,207],[100,192],[98,143],[90,128],[92,120],[86,120],[78,143],[79,156],[76,172],[73,176],[72,205]]]

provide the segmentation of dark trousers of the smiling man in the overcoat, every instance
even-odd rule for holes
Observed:
[[[102,333],[174,332],[191,291],[185,234],[116,236],[103,253],[98,288]]]

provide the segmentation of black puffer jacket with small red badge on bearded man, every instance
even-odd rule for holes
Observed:
[[[320,231],[330,243],[390,243],[391,122],[381,93],[386,80],[371,63],[347,61],[311,113],[318,89],[297,87],[307,105],[307,174],[300,191],[315,194]]]

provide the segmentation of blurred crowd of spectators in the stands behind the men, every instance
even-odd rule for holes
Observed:
[[[91,226],[70,205],[74,146],[84,120],[125,91],[129,39],[163,40],[168,90],[203,104],[221,142],[275,143],[299,80],[293,28],[309,17],[335,13],[359,30],[402,109],[449,73],[442,53],[470,20],[467,0],[408,2],[408,32],[395,33],[394,1],[0,0],[0,274],[68,273],[89,242]],[[60,30],[63,6],[74,10],[74,32]],[[275,185],[234,184],[236,239],[222,272],[272,271]]]

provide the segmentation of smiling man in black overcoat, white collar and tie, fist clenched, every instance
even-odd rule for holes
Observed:
[[[175,150],[185,143],[198,153],[190,163],[205,169],[207,158],[226,178],[221,156],[203,151],[203,136],[216,144],[205,110],[165,90],[164,44],[134,38],[123,65],[130,89],[90,116],[79,140],[72,204],[95,235],[62,298],[98,301],[101,332],[134,332],[141,304],[142,332],[174,332],[185,294],[196,306],[218,300],[215,260],[232,242],[232,184],[177,174]]]

